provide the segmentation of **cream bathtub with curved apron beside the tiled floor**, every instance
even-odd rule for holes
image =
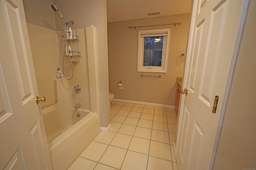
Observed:
[[[43,111],[54,170],[66,170],[100,132],[98,114],[85,109],[58,107]],[[76,114],[80,113],[80,117]]]

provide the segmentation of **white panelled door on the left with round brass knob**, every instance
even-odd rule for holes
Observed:
[[[0,169],[51,169],[22,0],[0,1]]]

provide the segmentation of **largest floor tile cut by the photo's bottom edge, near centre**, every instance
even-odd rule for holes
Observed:
[[[146,170],[148,155],[127,151],[121,170]]]

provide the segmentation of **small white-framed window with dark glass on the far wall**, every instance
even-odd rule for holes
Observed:
[[[139,31],[138,72],[166,72],[170,29]]]

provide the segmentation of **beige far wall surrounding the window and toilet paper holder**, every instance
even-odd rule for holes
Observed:
[[[175,104],[176,78],[182,76],[184,61],[179,56],[186,51],[190,14],[108,23],[109,91],[116,99]],[[156,25],[182,22],[182,25],[164,25],[129,29],[128,26]],[[171,28],[167,73],[137,72],[138,31]],[[159,75],[161,78],[141,77],[140,74]],[[118,89],[122,80],[123,90]]]

